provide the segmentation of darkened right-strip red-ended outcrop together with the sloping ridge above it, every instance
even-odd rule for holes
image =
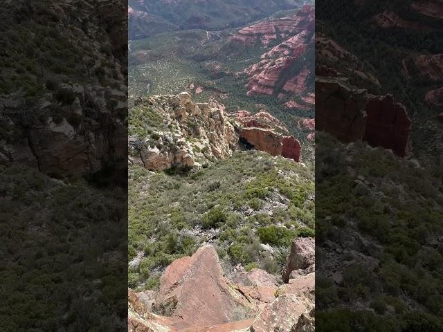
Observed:
[[[359,59],[332,39],[320,34],[316,45],[316,128],[343,142],[363,140],[406,156],[410,120],[405,107],[392,95],[358,89],[354,84],[361,79],[370,86],[380,84]]]

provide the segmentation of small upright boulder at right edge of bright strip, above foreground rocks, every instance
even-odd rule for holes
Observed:
[[[315,239],[311,237],[300,237],[292,241],[287,264],[282,273],[284,282],[289,282],[291,273],[295,270],[309,271],[315,264],[315,247]]]

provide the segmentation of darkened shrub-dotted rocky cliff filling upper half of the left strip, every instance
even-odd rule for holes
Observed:
[[[58,177],[125,167],[125,10],[116,0],[5,3],[1,163]]]

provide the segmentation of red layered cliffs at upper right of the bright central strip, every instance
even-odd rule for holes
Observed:
[[[249,77],[248,95],[284,97],[312,92],[313,84],[308,84],[307,78],[314,74],[313,64],[304,59],[313,54],[313,35],[314,11],[309,6],[291,17],[263,21],[240,30],[233,42],[251,46],[260,41],[269,46],[278,41],[262,55],[262,61],[244,70],[243,74]]]

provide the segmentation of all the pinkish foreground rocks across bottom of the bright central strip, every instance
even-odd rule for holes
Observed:
[[[301,257],[304,253],[311,255],[306,250],[296,252],[304,262],[298,266],[311,262],[310,256]],[[145,295],[129,289],[128,331],[313,332],[314,291],[314,273],[297,275],[279,285],[275,277],[255,268],[230,282],[221,272],[215,249],[203,246],[165,270],[155,304],[165,315],[152,313],[143,302]],[[233,320],[233,313],[244,310],[250,320]]]

